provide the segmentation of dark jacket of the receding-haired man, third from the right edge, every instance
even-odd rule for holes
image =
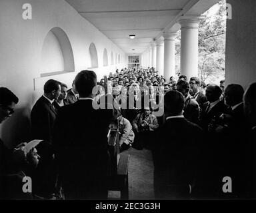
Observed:
[[[211,110],[207,111],[209,106],[209,101],[204,103],[202,112],[199,118],[199,124],[203,128],[203,130],[207,131],[208,125],[213,120],[213,118],[219,118],[222,113],[228,113],[227,106],[224,104],[224,101],[220,101],[217,103]]]

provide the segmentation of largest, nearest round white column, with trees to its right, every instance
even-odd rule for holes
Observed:
[[[198,25],[200,17],[181,19],[181,75],[198,76]]]

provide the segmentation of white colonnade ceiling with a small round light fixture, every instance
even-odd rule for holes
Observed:
[[[184,16],[199,16],[218,0],[65,0],[127,54],[141,54]],[[135,35],[130,39],[129,35]]]

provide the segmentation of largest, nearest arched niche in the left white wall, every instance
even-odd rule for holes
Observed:
[[[40,76],[75,71],[74,56],[67,34],[59,27],[51,29],[43,41]]]

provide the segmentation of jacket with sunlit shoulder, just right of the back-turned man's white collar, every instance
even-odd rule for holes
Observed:
[[[184,117],[190,122],[198,124],[199,114],[200,108],[197,101],[195,101],[195,99],[192,99],[191,97],[188,97],[187,100],[185,101],[185,107],[183,112]]]

